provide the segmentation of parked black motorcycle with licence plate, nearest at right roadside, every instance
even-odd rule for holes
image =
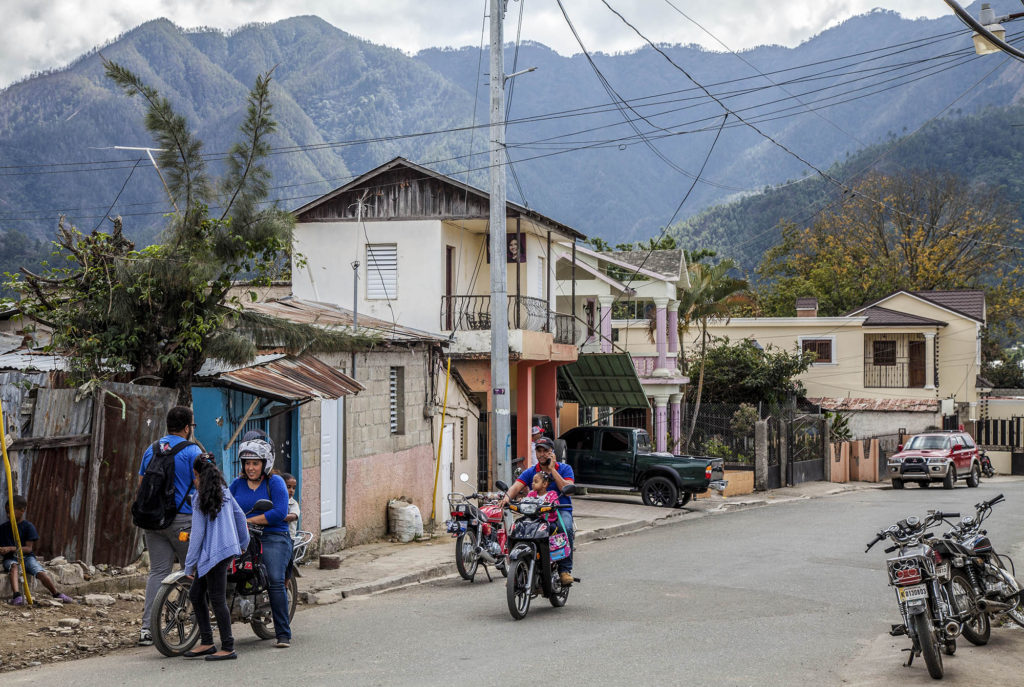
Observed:
[[[909,637],[912,646],[904,649],[910,654],[905,664],[909,667],[915,656],[923,656],[928,674],[936,680],[943,674],[942,649],[952,655],[965,624],[976,624],[979,615],[973,604],[973,588],[961,573],[955,576],[957,584],[952,584],[950,561],[937,550],[936,540],[927,531],[946,518],[957,517],[959,513],[932,511],[924,519],[904,518],[878,532],[864,550],[867,553],[886,539],[893,542],[885,551],[899,555],[889,558],[886,567],[889,585],[896,589],[903,624],[894,625],[889,634]],[[970,637],[968,640],[972,641]]]

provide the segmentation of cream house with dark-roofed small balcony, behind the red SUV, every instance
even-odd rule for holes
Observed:
[[[944,411],[977,418],[984,292],[898,291],[837,317],[814,298],[796,305],[796,317],[716,320],[709,334],[813,351],[807,397],[849,413],[855,436],[941,427]]]

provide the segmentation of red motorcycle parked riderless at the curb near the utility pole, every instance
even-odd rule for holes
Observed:
[[[459,479],[470,483],[465,472],[459,475]],[[503,576],[508,576],[506,532],[512,524],[512,517],[498,505],[502,496],[495,499],[485,493],[466,496],[458,491],[447,495],[452,517],[444,524],[455,538],[455,565],[463,579],[473,582],[481,564],[488,582],[488,565],[494,565]]]

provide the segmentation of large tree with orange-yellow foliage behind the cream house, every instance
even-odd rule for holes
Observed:
[[[836,315],[898,290],[984,289],[990,324],[1008,325],[1024,306],[1015,217],[997,191],[949,174],[870,174],[810,226],[783,226],[758,268],[760,305],[792,315],[816,296]]]

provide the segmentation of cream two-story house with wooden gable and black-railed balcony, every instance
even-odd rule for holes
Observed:
[[[487,194],[395,158],[295,211],[292,288],[297,298],[441,333],[453,366],[489,413],[489,263],[505,260],[515,431],[497,449],[515,458],[527,453],[535,414],[557,418],[557,369],[578,356],[582,327],[555,307],[553,246],[584,235],[506,207],[506,251],[490,255]],[[495,460],[485,420],[481,414],[482,482],[494,478]]]

